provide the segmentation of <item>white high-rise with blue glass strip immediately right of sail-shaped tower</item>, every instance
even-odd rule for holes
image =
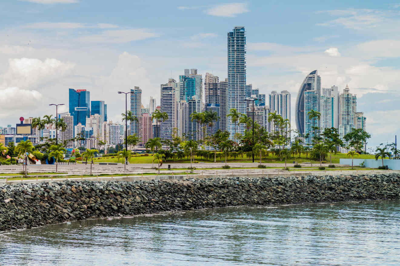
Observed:
[[[321,89],[320,97],[320,132],[323,133],[325,128],[338,128],[339,119],[339,95],[338,87]]]

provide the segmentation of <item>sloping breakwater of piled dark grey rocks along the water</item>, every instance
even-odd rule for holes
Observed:
[[[3,185],[0,231],[170,210],[398,198],[395,173]]]

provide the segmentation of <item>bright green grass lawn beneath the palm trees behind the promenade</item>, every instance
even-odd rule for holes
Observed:
[[[256,157],[256,154],[254,154],[255,158],[254,158],[254,162],[260,162],[260,159],[258,159]],[[346,154],[342,154],[342,153],[337,153],[337,154],[333,154],[332,153],[332,164],[338,164],[339,163],[339,159],[340,158],[347,158]],[[185,158],[186,159],[186,158]],[[372,154],[361,154],[358,157],[355,157],[354,159],[375,159],[375,156]],[[132,158],[130,158],[129,162],[131,164],[151,164],[153,160],[153,156],[134,156]],[[194,160],[198,161],[198,162],[205,162],[205,163],[212,163],[214,162],[214,159],[212,160],[207,160],[204,158],[201,158],[199,156],[195,156]],[[295,156],[295,158],[293,157],[288,157],[286,162],[291,164],[293,161],[300,163],[305,163],[305,162],[311,162],[312,164],[319,164],[319,161],[316,160],[310,160],[310,158],[306,158],[305,154],[301,155],[301,158],[298,158],[298,155]],[[102,157],[102,158],[95,158],[94,159],[95,163],[102,163],[102,162],[108,162],[108,163],[116,163],[118,162],[118,159],[116,156],[114,156],[114,158],[111,157]],[[120,163],[123,162],[123,160],[120,158],[119,160]],[[217,158],[217,162],[221,163],[221,162],[225,162],[225,158]],[[236,157],[236,159],[234,157],[228,157],[227,160],[228,163],[251,163],[252,159],[251,158],[246,158],[245,156],[243,158],[241,157]],[[285,163],[285,161],[280,161],[278,158],[276,157],[272,157],[271,154],[268,155],[268,157],[263,158],[262,159],[263,163]],[[330,163],[330,154],[328,154],[327,158],[326,158],[326,162]],[[176,160],[169,160],[169,161],[164,161],[164,164],[168,164],[168,163],[189,163],[190,164],[190,158],[189,160],[180,160],[180,159],[176,159]],[[196,164],[194,164],[195,166]],[[157,166],[156,162],[154,162],[154,166]]]

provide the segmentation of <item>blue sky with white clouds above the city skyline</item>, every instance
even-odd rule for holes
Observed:
[[[396,1],[396,0],[395,0]],[[367,146],[400,136],[400,2],[3,0],[0,3],[0,126],[55,115],[68,88],[105,100],[120,122],[118,91],[160,84],[197,68],[227,77],[226,34],[245,26],[247,83],[291,93],[317,69],[322,87],[346,84],[367,117]],[[67,107],[61,111],[67,111]]]

